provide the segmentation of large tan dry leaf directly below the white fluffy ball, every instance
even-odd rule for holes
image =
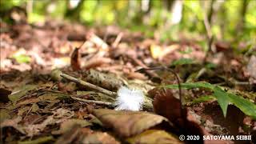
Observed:
[[[168,122],[166,118],[142,111],[94,109],[92,111],[106,127],[113,128],[122,137],[139,134],[150,127],[162,122]]]

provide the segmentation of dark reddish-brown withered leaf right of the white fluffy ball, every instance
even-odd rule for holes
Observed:
[[[149,94],[154,94],[154,112],[160,114],[174,123],[178,127],[179,134],[194,134],[202,138],[204,130],[193,121],[193,118],[182,108],[180,101],[174,98],[170,90],[153,89]],[[191,119],[189,119],[191,118]],[[198,143],[203,143],[202,139]]]

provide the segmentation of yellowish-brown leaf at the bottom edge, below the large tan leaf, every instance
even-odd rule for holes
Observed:
[[[168,134],[164,130],[146,130],[142,134],[138,134],[132,138],[127,138],[126,141],[131,144],[136,144],[136,143],[180,144],[180,143],[183,143],[177,138],[177,136]]]

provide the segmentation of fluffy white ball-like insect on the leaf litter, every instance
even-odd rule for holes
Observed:
[[[144,102],[144,94],[142,90],[130,90],[126,86],[121,86],[118,90],[118,98],[116,99],[115,110],[134,110],[142,109]]]

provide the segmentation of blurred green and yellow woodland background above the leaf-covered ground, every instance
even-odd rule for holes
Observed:
[[[1,19],[12,22],[16,10],[27,22],[68,19],[86,26],[118,25],[148,37],[177,41],[206,38],[256,42],[255,0],[1,0]],[[11,12],[11,14],[10,14]],[[10,16],[8,16],[8,14]],[[207,32],[206,25],[209,26]]]

